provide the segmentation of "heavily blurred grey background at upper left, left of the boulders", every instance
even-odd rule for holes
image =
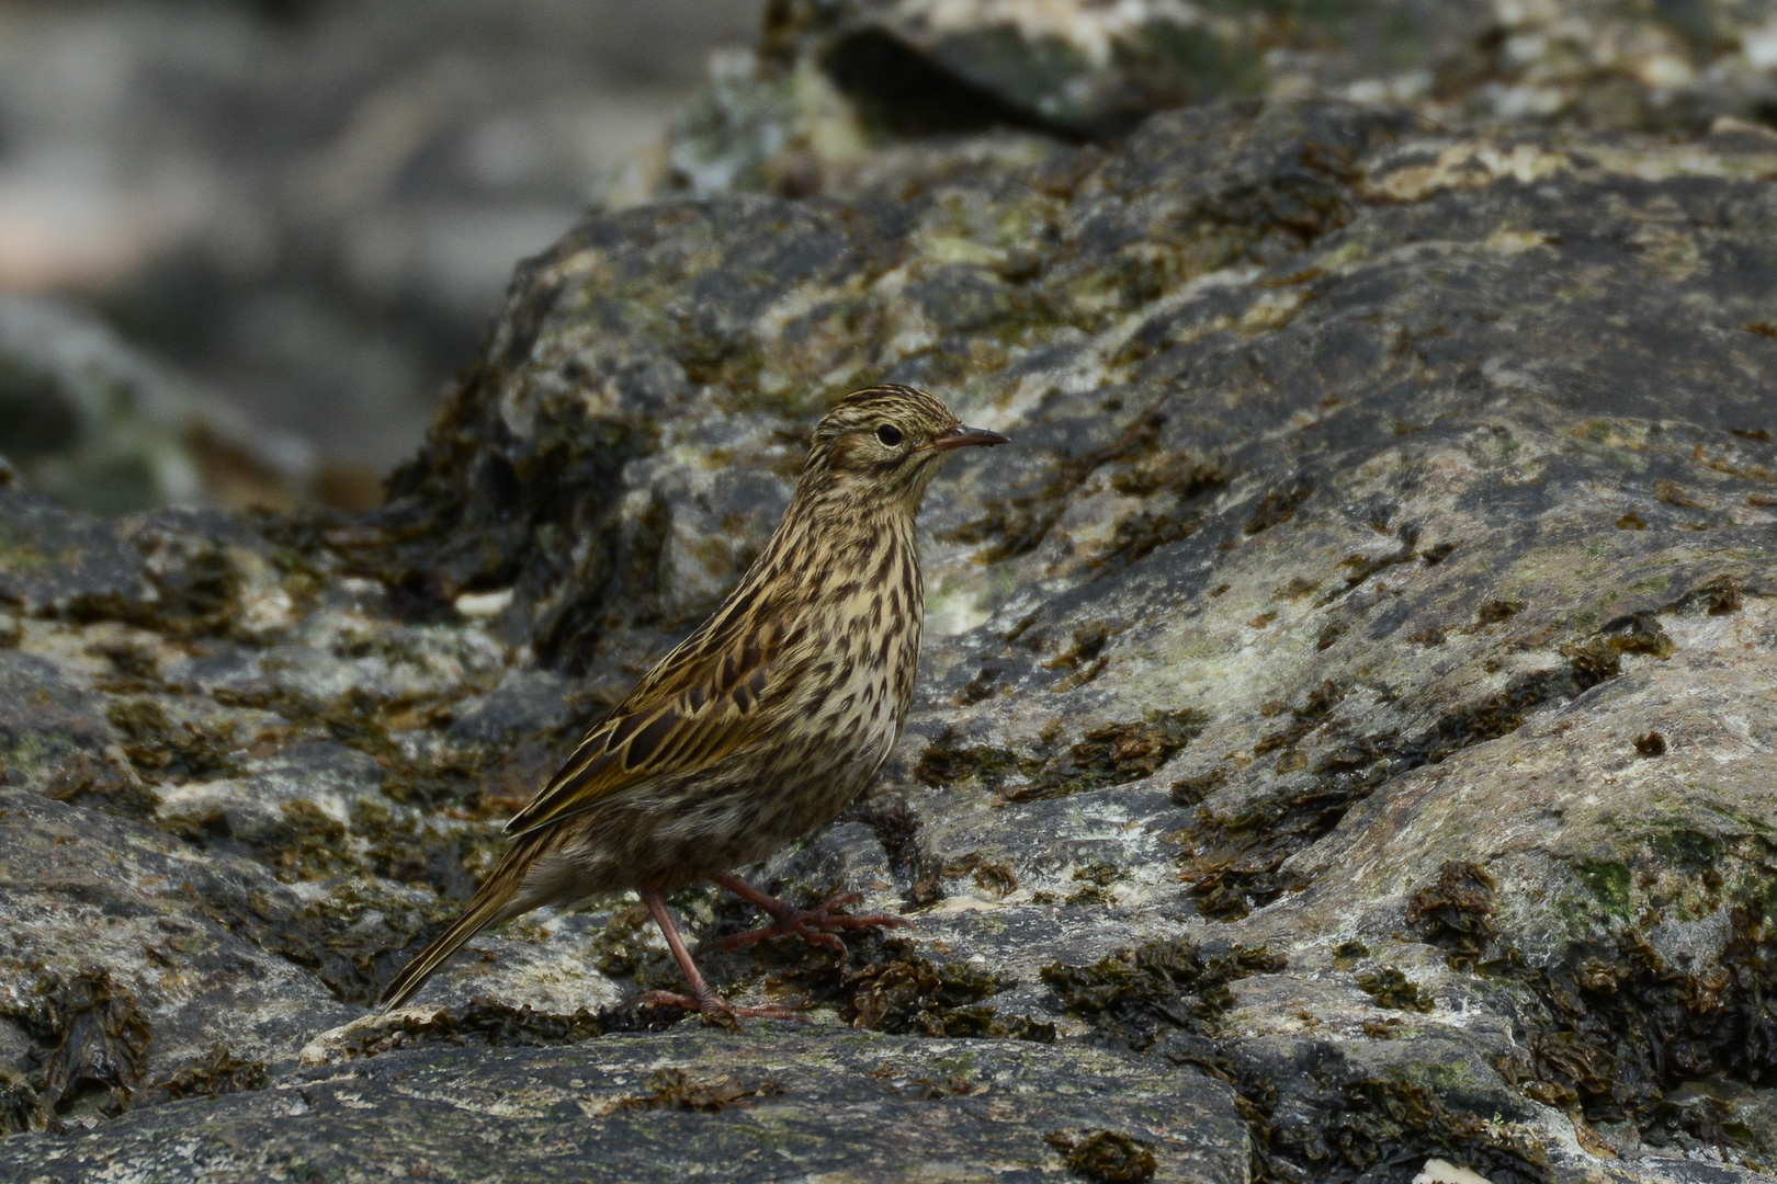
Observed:
[[[761,0],[0,0],[0,454],[361,506]]]

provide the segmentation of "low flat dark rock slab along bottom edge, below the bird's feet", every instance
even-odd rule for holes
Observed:
[[[489,1152],[478,1148],[498,1147],[503,1179],[537,1179],[567,1159],[590,1180],[1036,1179],[1066,1170],[1057,1143],[1111,1133],[1150,1166],[1096,1179],[1246,1179],[1231,1090],[1105,1051],[761,1030],[610,1037],[595,1060],[583,1053],[386,1053],[258,1093],[126,1115],[53,1150],[0,1143],[0,1164],[84,1180],[162,1163],[183,1145],[185,1163],[211,1179],[299,1164],[359,1175],[370,1163],[457,1179],[483,1177]],[[387,1136],[366,1156],[359,1133],[379,1111]]]

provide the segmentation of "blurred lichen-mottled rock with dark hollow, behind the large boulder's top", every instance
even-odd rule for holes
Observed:
[[[611,199],[865,192],[883,181],[883,142],[917,146],[896,183],[924,188],[1235,96],[1402,103],[1452,126],[1701,133],[1768,122],[1773,67],[1768,4],[794,0],[769,11],[755,50],[716,60],[652,183]]]

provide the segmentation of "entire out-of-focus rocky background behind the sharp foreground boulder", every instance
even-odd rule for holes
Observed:
[[[1777,119],[1777,0],[0,0],[0,454],[363,508],[592,204],[912,195],[1228,94]]]

